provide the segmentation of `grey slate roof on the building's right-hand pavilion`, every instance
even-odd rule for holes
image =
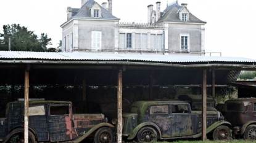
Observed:
[[[161,12],[161,17],[157,23],[162,22],[184,22],[184,23],[206,23],[205,21],[200,20],[189,12],[189,21],[181,21],[178,17],[178,11],[182,9],[178,3],[168,6],[163,12]]]

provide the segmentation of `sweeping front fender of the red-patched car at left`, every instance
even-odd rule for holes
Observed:
[[[83,134],[83,136],[80,136],[80,137],[74,139],[72,142],[73,143],[78,143],[78,142],[83,141],[83,139],[88,137],[91,133],[93,133],[94,131],[96,131],[97,129],[99,129],[103,126],[107,126],[107,127],[110,127],[110,128],[115,128],[115,126],[111,125],[110,123],[99,123],[99,124],[93,126],[93,128],[89,129],[89,131],[87,131],[85,134]]]

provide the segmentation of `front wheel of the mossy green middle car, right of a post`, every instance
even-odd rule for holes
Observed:
[[[213,139],[214,140],[227,140],[230,138],[230,129],[228,126],[218,126],[217,128],[214,129],[213,131]]]

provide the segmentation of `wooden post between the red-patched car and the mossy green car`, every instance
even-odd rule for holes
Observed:
[[[122,69],[118,69],[117,87],[117,143],[122,143]]]

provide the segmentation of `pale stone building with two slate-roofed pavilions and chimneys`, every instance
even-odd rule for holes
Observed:
[[[62,52],[205,55],[205,21],[187,4],[173,2],[162,12],[160,2],[155,6],[147,6],[147,23],[120,23],[112,15],[112,0],[101,5],[81,0],[80,9],[67,7],[67,21],[60,26]]]

